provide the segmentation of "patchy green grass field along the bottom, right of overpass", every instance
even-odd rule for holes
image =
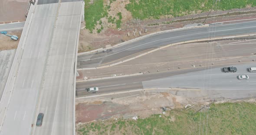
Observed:
[[[198,135],[200,132],[205,135],[255,135],[256,103],[212,104],[209,111],[203,108],[194,115],[197,110],[171,110],[165,115],[152,115],[137,121],[110,119],[104,122],[90,122],[80,126],[77,133],[78,135]]]

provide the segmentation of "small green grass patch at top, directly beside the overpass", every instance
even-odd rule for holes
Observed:
[[[103,4],[103,0],[94,0],[92,4],[90,4],[90,0],[85,1],[85,28],[89,29],[90,32],[93,32],[95,26],[97,26],[97,22],[99,21],[99,25],[102,24],[100,21],[101,18],[108,16],[107,8]],[[99,31],[99,30],[98,30]],[[101,30],[100,30],[101,31]]]

